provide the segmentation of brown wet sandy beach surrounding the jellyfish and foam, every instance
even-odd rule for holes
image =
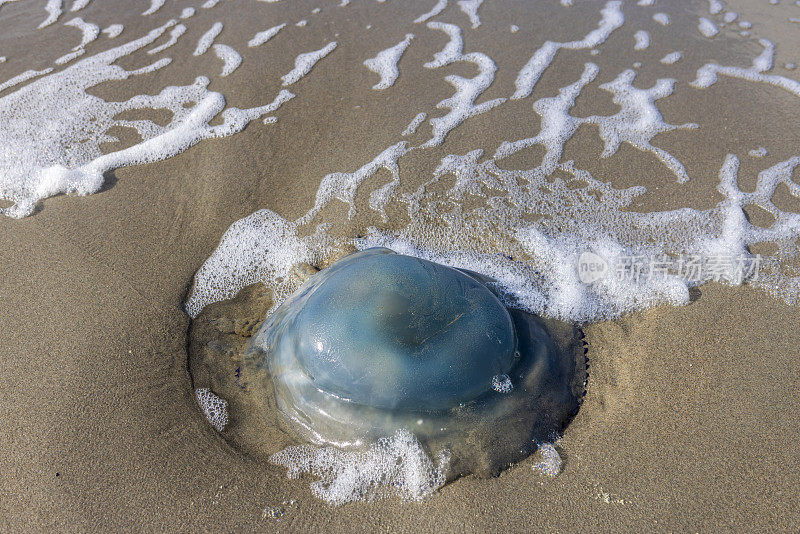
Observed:
[[[315,205],[323,177],[352,173],[398,142],[426,142],[432,136],[428,123],[407,136],[400,132],[421,110],[429,117],[446,114],[437,108],[454,92],[445,75],[469,78],[478,71],[468,62],[424,67],[448,43],[442,31],[414,22],[430,11],[433,0],[339,3],[223,0],[202,8],[168,1],[143,16],[151,6],[146,0],[93,0],[75,12],[69,11],[71,2],[64,2],[57,21],[37,29],[48,17],[44,2],[0,2],[0,56],[7,58],[0,63],[0,83],[27,69],[59,72],[75,64],[54,60],[81,42],[82,34],[64,24],[79,16],[101,29],[123,24],[124,30],[113,39],[102,34],[87,43],[84,55],[73,62],[170,20],[176,21],[170,29],[186,26],[163,52],[146,50],[164,43],[169,30],[117,60],[133,70],[164,54],[172,58],[163,69],[87,89],[104,102],[155,95],[167,86],[190,85],[198,76],[208,76],[208,90],[223,94],[229,107],[264,106],[282,88],[295,95],[237,133],[203,138],[158,161],[105,171],[103,185],[93,194],[59,194],[38,201],[26,217],[0,217],[0,530],[795,529],[800,522],[800,307],[755,283],[710,282],[692,288],[685,305],[645,303],[612,318],[581,321],[589,346],[587,395],[557,442],[564,465],[556,477],[542,475],[529,458],[496,478],[460,478],[420,502],[392,498],[331,506],[312,495],[313,477],[289,479],[285,468],[247,454],[209,425],[193,391],[206,385],[193,383],[188,368],[185,304],[195,273],[226,230],[259,209],[296,221]],[[457,25],[464,53],[480,51],[497,65],[477,102],[509,98],[519,88],[520,69],[543,43],[583,39],[598,27],[606,5],[487,0],[478,11],[480,26],[474,27],[465,11],[450,4],[430,20]],[[663,122],[698,125],[651,139],[680,162],[690,178],[683,183],[663,158],[641,144],[623,142],[614,154],[601,157],[606,145],[600,122],[582,124],[562,141],[559,161],[574,161],[616,190],[646,188],[619,213],[714,208],[724,198],[718,186],[728,154],[740,160],[738,187],[755,190],[759,172],[800,155],[800,95],[786,84],[724,73],[707,88],[691,82],[711,62],[749,68],[766,46],[759,39],[769,39],[775,48],[774,65],[764,73],[796,80],[798,71],[786,65],[800,63],[800,27],[790,20],[800,17],[800,7],[788,0],[776,6],[766,0],[723,5],[711,14],[708,2],[626,2],[620,8],[623,25],[596,46],[559,50],[531,96],[476,113],[448,131],[441,144],[397,160],[398,197],[428,182],[449,154],[482,149],[489,159],[504,141],[536,135],[543,121],[534,101],[575,83],[587,62],[596,64],[598,74],[579,91],[573,117],[617,113],[620,105],[599,86],[631,69],[637,88],[651,88],[665,77],[677,80],[673,91],[655,100]],[[188,7],[196,14],[180,19]],[[312,12],[315,8],[320,11]],[[669,15],[669,25],[653,20],[657,12]],[[722,27],[728,12],[737,13],[736,22]],[[719,34],[709,38],[699,32],[699,18],[715,21]],[[302,20],[307,22],[296,25]],[[743,20],[751,27],[737,25]],[[220,75],[224,61],[213,49],[193,55],[215,22],[224,27],[216,42],[242,58],[226,76]],[[255,34],[284,22],[269,41],[248,46]],[[518,28],[512,31],[512,25]],[[639,29],[649,32],[651,42],[636,51]],[[399,61],[399,77],[391,87],[373,90],[381,77],[363,61],[408,33],[414,38]],[[328,56],[299,81],[282,85],[281,77],[296,66],[300,52],[331,41],[337,45]],[[682,57],[676,63],[660,61],[678,50]],[[0,103],[46,76],[5,88]],[[23,104],[27,107],[12,110],[16,115],[0,107],[0,121],[8,121],[0,128],[10,129],[12,120],[47,122],[47,116],[26,118],[20,112],[35,108],[35,101]],[[75,109],[87,105],[79,102]],[[117,118],[164,126],[168,109],[121,111]],[[277,120],[264,124],[262,116]],[[209,127],[221,121],[216,116]],[[119,140],[100,142],[103,154],[138,142],[130,127],[112,128],[107,134]],[[41,135],[53,131],[48,127]],[[59,146],[73,142],[79,139]],[[20,140],[19,146],[26,143]],[[8,147],[8,153],[18,149]],[[767,154],[748,156],[759,147]],[[536,145],[497,164],[529,169],[545,152]],[[6,161],[0,159],[0,165]],[[800,183],[800,171],[792,169],[791,179]],[[7,176],[14,170],[11,164],[0,166]],[[370,227],[411,228],[403,202],[387,204],[385,220],[371,209],[367,189],[391,178],[385,167],[373,171],[355,196],[355,216],[348,217],[351,206],[334,199],[301,227],[301,235],[312,234],[317,224],[330,225],[330,235],[344,238],[362,236]],[[0,207],[14,202],[5,198]],[[786,213],[800,211],[785,184],[772,202]],[[767,228],[775,220],[752,204],[745,212],[756,226]],[[524,216],[536,220],[535,213]],[[787,232],[786,242],[797,243],[797,230]],[[491,236],[476,245],[513,252],[503,246]],[[775,251],[772,245],[759,247],[751,252],[768,256]],[[796,275],[797,261],[787,258],[782,272]]]

